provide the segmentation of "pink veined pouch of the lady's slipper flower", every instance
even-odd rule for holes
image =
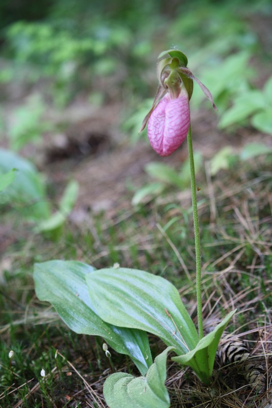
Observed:
[[[171,99],[167,93],[152,112],[147,126],[151,146],[160,156],[171,155],[184,141],[190,125],[188,94],[181,90]]]

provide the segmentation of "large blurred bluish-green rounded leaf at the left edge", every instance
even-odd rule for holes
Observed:
[[[14,152],[0,148],[0,174],[16,168],[16,178],[1,195],[1,203],[12,203],[26,218],[37,220],[49,216],[45,183],[35,166]]]

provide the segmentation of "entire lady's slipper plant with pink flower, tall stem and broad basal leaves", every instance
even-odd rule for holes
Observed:
[[[148,138],[160,156],[171,155],[187,136],[195,228],[198,329],[178,290],[152,273],[119,265],[95,270],[81,262],[58,260],[36,264],[34,269],[40,300],[51,302],[76,333],[101,336],[114,350],[129,355],[142,374],[134,378],[130,374],[115,373],[107,378],[104,396],[110,408],[169,407],[164,382],[170,351],[176,354],[173,361],[191,367],[208,385],[220,338],[235,313],[229,313],[204,336],[200,234],[189,113],[193,81],[216,108],[211,93],[187,68],[187,58],[179,50],[170,49],[159,55],[157,76],[159,87],[141,130],[148,123]],[[168,346],[154,363],[147,333],[158,336]]]

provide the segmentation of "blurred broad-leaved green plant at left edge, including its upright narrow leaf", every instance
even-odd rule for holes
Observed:
[[[22,219],[35,225],[37,232],[57,237],[71,213],[78,194],[78,184],[70,181],[51,214],[43,175],[28,160],[14,152],[0,148],[0,206],[18,211]],[[10,207],[10,208],[9,208]]]

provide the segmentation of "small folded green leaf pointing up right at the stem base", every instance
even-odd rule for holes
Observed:
[[[236,311],[230,312],[221,323],[207,336],[201,339],[194,350],[186,354],[173,357],[172,360],[184,366],[191,367],[198,377],[205,383],[209,384],[209,378],[212,375],[215,354],[220,338]]]

